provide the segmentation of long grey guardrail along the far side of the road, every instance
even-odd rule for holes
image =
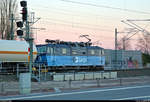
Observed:
[[[80,80],[80,81],[47,81],[47,82],[32,82],[32,93],[39,92],[55,92],[56,89],[79,89],[88,87],[113,87],[123,85],[141,85],[150,83],[150,77],[130,77],[130,78],[116,78],[116,79],[94,79],[94,80]],[[17,95],[19,94],[19,82],[1,82],[0,95]]]

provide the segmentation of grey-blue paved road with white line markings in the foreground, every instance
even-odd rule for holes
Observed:
[[[150,100],[150,85],[0,97],[0,100]]]

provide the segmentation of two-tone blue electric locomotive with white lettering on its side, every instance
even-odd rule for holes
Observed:
[[[105,65],[104,49],[91,43],[46,40],[37,45],[36,63],[49,68],[102,68]]]

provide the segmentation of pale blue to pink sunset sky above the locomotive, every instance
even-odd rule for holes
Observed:
[[[27,0],[27,2],[30,12],[35,12],[35,16],[41,18],[34,27],[45,28],[34,30],[37,44],[45,43],[45,39],[87,41],[79,37],[85,34],[89,35],[95,45],[114,49],[115,28],[120,32],[130,28],[121,20],[150,19],[150,0]],[[148,21],[135,23],[149,29]],[[123,35],[126,34],[120,33],[118,39]],[[138,36],[137,34],[132,37],[132,46],[135,45]]]

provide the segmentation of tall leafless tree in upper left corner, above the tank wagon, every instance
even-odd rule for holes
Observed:
[[[0,0],[0,38],[10,39],[11,15],[17,12],[17,0]]]

